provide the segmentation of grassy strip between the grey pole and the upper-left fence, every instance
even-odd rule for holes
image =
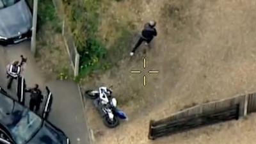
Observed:
[[[33,8],[33,0],[28,0]],[[62,22],[52,0],[38,1],[38,31],[36,36],[36,61],[53,79],[71,76],[70,61],[61,38]]]

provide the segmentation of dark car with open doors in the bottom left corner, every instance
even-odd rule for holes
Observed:
[[[64,132],[0,88],[0,144],[69,144]]]

